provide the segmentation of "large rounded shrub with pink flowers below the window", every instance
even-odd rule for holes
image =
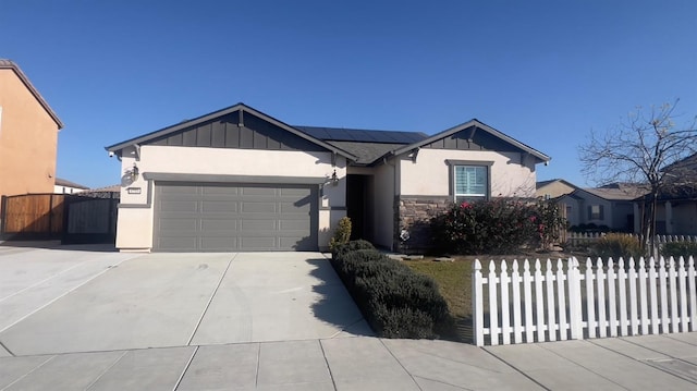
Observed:
[[[564,221],[555,204],[497,198],[454,204],[432,221],[433,241],[451,254],[511,254],[548,248]]]

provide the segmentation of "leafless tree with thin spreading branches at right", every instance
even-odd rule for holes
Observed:
[[[637,108],[606,133],[591,132],[588,143],[578,148],[582,172],[591,182],[645,186],[641,235],[650,254],[656,251],[657,198],[685,183],[687,170],[681,162],[697,151],[697,118],[676,125],[676,103]]]

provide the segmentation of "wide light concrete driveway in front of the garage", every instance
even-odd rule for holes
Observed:
[[[0,249],[0,356],[369,335],[319,253]]]

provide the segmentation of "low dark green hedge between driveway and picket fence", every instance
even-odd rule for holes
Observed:
[[[338,246],[332,266],[370,327],[383,338],[436,338],[448,304],[429,277],[390,259],[366,241]]]

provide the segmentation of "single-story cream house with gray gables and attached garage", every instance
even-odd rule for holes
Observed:
[[[550,160],[477,120],[427,136],[291,126],[243,103],[107,150],[122,164],[117,247],[164,252],[325,249],[344,216],[355,236],[414,248],[453,201],[533,198]]]

